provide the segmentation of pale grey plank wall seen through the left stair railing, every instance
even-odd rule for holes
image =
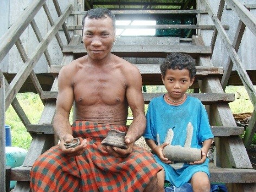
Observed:
[[[5,22],[8,21],[9,25],[11,25],[12,23],[14,23],[17,20],[17,18],[21,15],[21,13],[25,10],[25,8],[27,8],[28,5],[31,3],[33,3],[33,0],[23,0],[23,1],[1,0],[0,1],[1,15],[2,15],[2,12],[3,12],[3,15],[9,15],[9,18],[8,17],[5,18],[4,21]],[[60,8],[62,11],[67,8],[68,4],[75,5],[75,10],[77,10],[77,6],[78,6],[75,0],[61,1],[59,4],[60,4]],[[3,9],[2,5],[4,5],[4,9]],[[52,0],[46,1],[46,5],[49,8],[49,11],[53,17],[53,20],[56,21],[58,16],[57,16],[53,1]],[[10,11],[10,12],[8,12],[8,11]],[[74,25],[74,21],[75,21],[74,17],[75,16],[70,16],[68,18],[67,23],[70,25]],[[1,18],[1,20],[2,20],[2,18]],[[0,23],[2,24],[1,20],[0,20]],[[43,9],[41,9],[35,16],[35,22],[36,22],[42,36],[46,35],[48,33],[51,25],[47,19],[46,13],[44,12]],[[1,33],[2,32],[0,29],[0,37],[1,37],[1,35],[3,35]],[[59,34],[60,34],[63,44],[67,44],[67,40],[66,40],[66,37],[65,37],[65,34],[63,33],[63,31],[60,31]],[[72,35],[73,35],[73,33],[71,33],[71,36]],[[26,54],[28,56],[33,55],[33,52],[34,52],[35,48],[37,47],[37,45],[39,44],[39,42],[35,36],[34,30],[32,29],[31,25],[29,25],[29,27],[27,29],[25,29],[25,31],[21,35],[20,39],[24,46]],[[56,38],[54,38],[50,42],[50,44],[48,46],[48,51],[50,53],[53,64],[59,65],[63,59],[63,55],[62,55],[61,49],[59,47],[59,44],[57,43]],[[23,61],[20,57],[20,54],[18,53],[16,46],[12,47],[12,49],[10,50],[9,57],[5,61],[5,63],[6,62],[8,62],[8,68],[3,67],[3,65],[4,65],[3,62],[0,63],[0,69],[2,70],[3,73],[17,73],[18,70],[23,65]],[[46,61],[46,57],[44,57],[44,55],[40,58],[39,62],[36,64],[34,71],[35,71],[35,73],[48,73],[49,67],[48,67],[48,64]]]

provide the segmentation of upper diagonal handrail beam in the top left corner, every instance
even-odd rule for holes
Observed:
[[[14,43],[20,38],[23,31],[28,27],[29,23],[34,19],[46,0],[35,0],[18,17],[17,21],[11,25],[10,29],[0,39],[0,62],[12,48]]]

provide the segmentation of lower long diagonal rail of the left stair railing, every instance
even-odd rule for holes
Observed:
[[[21,67],[20,71],[15,75],[15,78],[11,81],[9,87],[5,91],[5,107],[8,108],[11,104],[12,100],[15,98],[15,95],[20,90],[21,86],[24,84],[25,80],[28,78],[29,74],[33,70],[34,66],[36,65],[37,61],[40,59],[44,50],[46,50],[47,45],[49,44],[50,40],[53,39],[61,25],[66,21],[67,17],[69,16],[70,12],[72,11],[72,5],[64,11],[63,15],[59,17],[57,23],[54,24],[52,29],[48,31],[46,34],[46,39],[39,43],[37,46],[34,55],[31,59],[28,59],[24,65]]]

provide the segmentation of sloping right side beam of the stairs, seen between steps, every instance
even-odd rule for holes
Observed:
[[[195,44],[203,45],[202,37],[194,36]],[[209,56],[201,56],[197,60],[198,65],[204,67],[212,67],[213,63]],[[207,93],[223,93],[220,80],[215,77],[204,78],[200,81],[200,89]],[[213,126],[227,126],[235,127],[236,123],[228,104],[219,103],[217,105],[210,105],[209,114],[210,125]],[[214,139],[217,156],[220,158],[222,167],[225,168],[252,168],[249,161],[247,151],[245,149],[242,139],[239,137],[226,137]]]

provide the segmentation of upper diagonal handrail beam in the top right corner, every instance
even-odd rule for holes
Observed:
[[[256,36],[256,17],[238,0],[225,0],[233,11],[238,14],[240,20]]]

